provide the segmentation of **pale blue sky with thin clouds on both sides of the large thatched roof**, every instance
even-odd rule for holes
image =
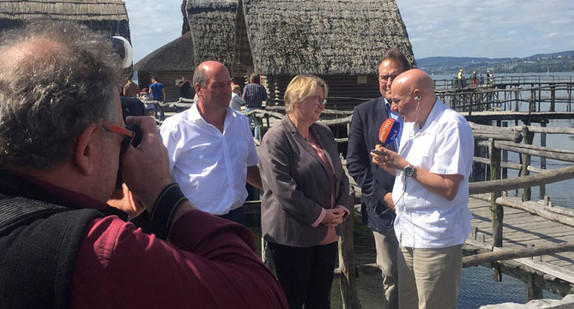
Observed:
[[[181,35],[182,0],[124,0],[134,63]],[[158,3],[160,3],[158,5]],[[415,58],[574,50],[573,0],[396,0]]]

